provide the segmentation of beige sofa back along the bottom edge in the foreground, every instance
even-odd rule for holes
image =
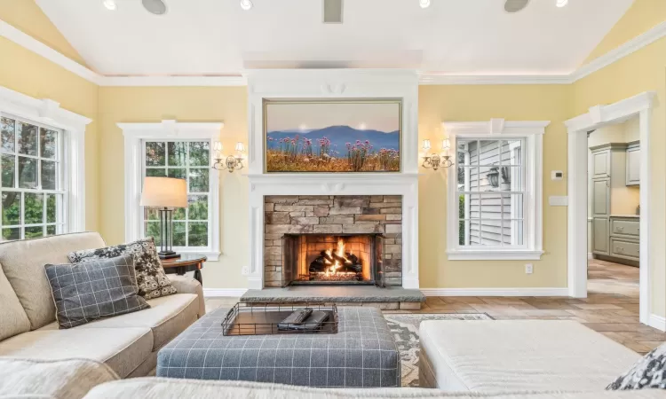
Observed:
[[[318,389],[246,381],[155,377],[119,379],[91,360],[36,361],[0,358],[0,399],[656,399],[662,390],[610,392],[443,392],[421,388]]]

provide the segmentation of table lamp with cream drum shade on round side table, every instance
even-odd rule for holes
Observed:
[[[187,183],[173,177],[146,177],[141,192],[142,207],[156,207],[160,212],[160,259],[178,258],[173,251],[173,209],[187,207]]]

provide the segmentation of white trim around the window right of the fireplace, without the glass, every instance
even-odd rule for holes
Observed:
[[[447,195],[447,254],[449,261],[539,260],[543,254],[543,134],[550,121],[490,121],[443,122],[442,128],[457,149],[457,138],[520,137],[525,139],[522,152],[525,165],[525,246],[517,248],[461,247],[458,245],[458,199],[456,198],[457,168],[448,168]],[[457,152],[454,156],[457,155]],[[455,161],[455,160],[454,160]]]

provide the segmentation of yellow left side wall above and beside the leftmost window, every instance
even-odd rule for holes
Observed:
[[[4,37],[0,37],[0,54],[0,86],[34,98],[51,98],[62,108],[92,119],[85,129],[85,226],[98,230],[97,85]]]

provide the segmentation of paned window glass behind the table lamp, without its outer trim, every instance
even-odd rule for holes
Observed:
[[[207,248],[210,237],[210,141],[144,141],[143,176],[169,176],[187,181],[186,208],[173,213],[173,246]],[[155,237],[159,245],[159,214],[144,208],[144,236]]]

